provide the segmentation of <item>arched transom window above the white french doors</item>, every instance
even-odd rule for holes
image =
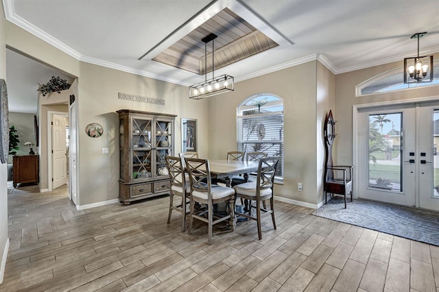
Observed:
[[[385,93],[395,90],[404,90],[407,88],[415,88],[419,86],[431,86],[439,84],[439,62],[434,63],[433,82],[420,82],[405,84],[403,68],[393,69],[391,71],[381,73],[377,76],[362,82],[357,86],[357,96],[368,95],[370,93]]]

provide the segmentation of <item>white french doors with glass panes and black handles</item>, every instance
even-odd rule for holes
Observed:
[[[358,112],[358,196],[439,210],[439,103]]]

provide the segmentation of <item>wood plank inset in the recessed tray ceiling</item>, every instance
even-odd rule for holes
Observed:
[[[215,70],[278,46],[247,21],[225,8],[197,27],[152,60],[204,75],[204,42],[202,38],[216,34],[214,42]],[[212,42],[206,45],[207,73],[212,72]]]

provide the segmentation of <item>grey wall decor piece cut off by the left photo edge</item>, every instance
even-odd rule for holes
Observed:
[[[6,82],[0,79],[0,162],[8,163],[9,152],[9,111]]]

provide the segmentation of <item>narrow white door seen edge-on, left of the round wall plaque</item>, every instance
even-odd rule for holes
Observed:
[[[70,108],[70,123],[69,123],[69,179],[70,179],[70,195],[73,204],[77,204],[77,191],[76,191],[76,106],[73,105]]]

